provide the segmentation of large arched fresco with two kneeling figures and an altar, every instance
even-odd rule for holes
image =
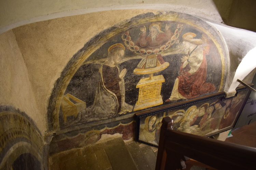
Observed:
[[[48,128],[73,133],[69,139],[96,129],[131,131],[134,113],[223,91],[228,68],[222,36],[201,19],[138,15],[103,30],[72,57],[53,89]]]

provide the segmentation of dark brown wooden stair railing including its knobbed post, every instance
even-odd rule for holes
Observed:
[[[172,130],[162,120],[156,170],[190,169],[197,165],[218,170],[256,169],[256,149]]]

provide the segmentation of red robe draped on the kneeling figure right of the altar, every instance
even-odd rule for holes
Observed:
[[[189,64],[187,64],[186,67],[182,68],[183,63],[184,62],[181,63],[180,68],[181,75],[177,77],[179,79],[178,90],[183,97],[191,99],[198,97],[202,94],[207,94],[216,89],[213,84],[205,82],[207,74],[207,63],[205,54],[203,54],[201,66],[193,74],[189,73],[189,70],[191,69]]]

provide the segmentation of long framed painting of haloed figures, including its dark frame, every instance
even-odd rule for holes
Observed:
[[[253,86],[253,85],[251,85]],[[225,98],[224,92],[179,104],[137,113],[136,140],[158,146],[161,121],[169,116],[176,131],[209,137],[234,128],[243,110],[250,90],[236,89],[237,94]]]

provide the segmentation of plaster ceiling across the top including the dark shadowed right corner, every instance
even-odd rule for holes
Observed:
[[[86,3],[85,3],[86,2]],[[0,33],[32,22],[120,9],[154,9],[183,12],[218,23],[255,31],[254,0],[12,0],[0,2]],[[196,10],[194,10],[196,9]],[[222,21],[223,20],[223,21]]]

